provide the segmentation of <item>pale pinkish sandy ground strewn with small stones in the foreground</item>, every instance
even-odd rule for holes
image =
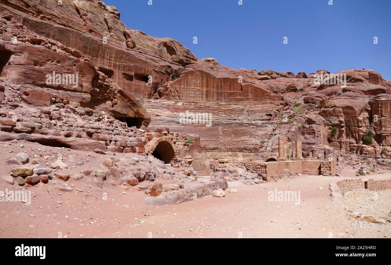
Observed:
[[[345,168],[343,177],[355,177],[354,172]],[[379,176],[391,178],[390,173],[371,177]],[[376,200],[371,199],[373,192],[362,190],[333,202],[329,183],[339,179],[302,175],[260,185],[229,182],[237,193],[165,206],[143,204],[143,192],[122,194],[120,187],[101,189],[83,181],[67,181],[74,192],[59,193],[52,185],[30,187],[30,205],[0,203],[0,237],[390,238],[391,225],[358,222],[346,212],[387,216],[391,190],[377,192]],[[24,188],[2,181],[0,190],[5,189]],[[300,191],[300,203],[270,201],[268,193],[275,189]]]

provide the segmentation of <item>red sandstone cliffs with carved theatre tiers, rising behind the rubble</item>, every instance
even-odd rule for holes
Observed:
[[[391,82],[376,71],[333,79],[326,70],[231,69],[126,27],[115,7],[97,0],[0,0],[0,13],[0,100],[8,107],[107,112],[129,128],[196,134],[209,153],[249,159],[273,156],[278,136],[288,137],[291,154],[301,140],[305,156],[327,148],[391,158]],[[52,73],[78,74],[79,84],[50,83]],[[187,112],[212,118],[183,123]]]

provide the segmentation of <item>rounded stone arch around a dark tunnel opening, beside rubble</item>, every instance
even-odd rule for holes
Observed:
[[[159,137],[152,139],[145,145],[145,153],[153,155],[165,164],[169,164],[175,157],[176,148],[170,138]]]

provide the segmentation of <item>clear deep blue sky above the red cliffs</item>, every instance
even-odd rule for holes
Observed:
[[[118,8],[129,28],[176,39],[198,59],[213,57],[231,68],[295,74],[365,68],[391,80],[390,0],[104,2]]]

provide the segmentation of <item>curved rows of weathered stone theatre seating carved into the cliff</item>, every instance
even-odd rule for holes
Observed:
[[[262,146],[262,139],[273,132],[273,115],[280,103],[268,102],[174,102],[144,100],[151,115],[150,130],[169,127],[182,135],[196,134],[209,150],[242,151]],[[210,113],[212,126],[207,124],[181,124],[180,113]]]

